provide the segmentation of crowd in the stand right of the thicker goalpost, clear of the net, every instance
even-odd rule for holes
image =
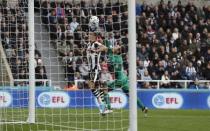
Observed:
[[[210,6],[161,0],[137,10],[139,79],[210,80]]]

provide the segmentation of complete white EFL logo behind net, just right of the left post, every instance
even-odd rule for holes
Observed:
[[[68,107],[70,97],[65,92],[43,92],[38,96],[38,104],[47,108]]]

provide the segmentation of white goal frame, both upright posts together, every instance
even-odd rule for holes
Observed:
[[[129,38],[129,130],[137,131],[137,87],[136,87],[136,0],[128,1],[128,38]],[[28,1],[28,29],[29,29],[29,107],[26,122],[36,123],[35,119],[35,65],[34,65],[34,0]],[[1,123],[2,124],[2,123]]]

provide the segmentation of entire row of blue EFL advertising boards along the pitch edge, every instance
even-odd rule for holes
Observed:
[[[109,93],[112,108],[128,108],[128,98],[121,91]],[[139,90],[138,98],[150,109],[210,109],[210,90]],[[28,106],[27,89],[0,90],[0,108]],[[95,108],[96,98],[89,90],[36,90],[37,108]]]

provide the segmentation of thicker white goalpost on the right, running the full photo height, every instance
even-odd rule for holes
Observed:
[[[136,0],[128,0],[129,130],[137,131]]]

